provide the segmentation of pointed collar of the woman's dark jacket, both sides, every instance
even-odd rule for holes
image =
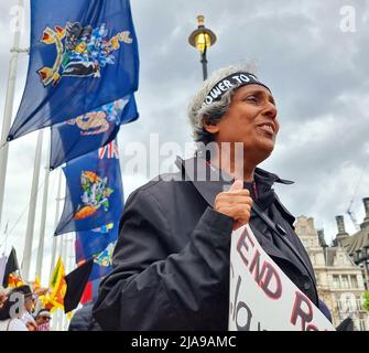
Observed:
[[[215,197],[218,193],[227,191],[234,183],[234,178],[210,165],[203,158],[191,158],[183,160],[177,156],[175,164],[184,173],[187,181],[192,181],[199,194],[213,207]],[[276,174],[257,168],[254,171],[256,182],[270,189],[275,182],[281,184],[293,184],[293,181],[284,180]]]

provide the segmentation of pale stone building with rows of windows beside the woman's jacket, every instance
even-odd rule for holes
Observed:
[[[340,231],[346,233],[343,217],[336,220]],[[369,313],[362,308],[366,287],[360,268],[343,247],[327,246],[323,231],[314,227],[314,218],[297,217],[295,229],[310,255],[318,295],[330,309],[334,325],[350,315],[356,330],[369,330]],[[343,234],[337,235],[340,236]]]

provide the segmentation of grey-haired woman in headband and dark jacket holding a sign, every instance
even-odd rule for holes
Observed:
[[[227,330],[230,235],[247,223],[318,306],[295,217],[272,189],[292,182],[258,168],[280,129],[271,89],[246,68],[219,69],[194,97],[189,121],[200,142],[195,158],[177,159],[177,173],[126,203],[113,270],[94,310],[104,330]]]

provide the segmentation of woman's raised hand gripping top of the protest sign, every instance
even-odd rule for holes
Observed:
[[[250,220],[252,199],[243,181],[236,180],[229,191],[220,192],[215,197],[214,210],[234,218],[234,231]]]

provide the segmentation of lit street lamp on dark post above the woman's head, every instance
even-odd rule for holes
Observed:
[[[195,46],[202,56],[200,63],[203,64],[203,77],[204,81],[207,78],[207,60],[206,52],[217,40],[215,33],[204,25],[204,15],[197,17],[197,30],[191,33],[188,36],[188,43]]]

